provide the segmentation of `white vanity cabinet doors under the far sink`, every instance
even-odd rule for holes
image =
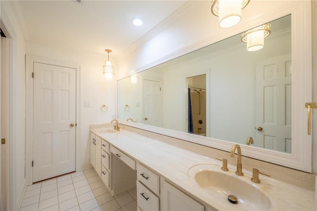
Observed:
[[[101,138],[90,132],[90,162],[101,176]]]

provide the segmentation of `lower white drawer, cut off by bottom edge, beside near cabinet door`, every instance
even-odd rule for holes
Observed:
[[[159,197],[137,181],[138,208],[143,211],[159,211]]]

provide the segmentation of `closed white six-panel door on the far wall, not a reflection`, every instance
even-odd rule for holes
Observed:
[[[34,62],[33,182],[75,170],[76,70]]]

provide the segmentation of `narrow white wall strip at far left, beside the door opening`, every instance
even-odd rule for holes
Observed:
[[[19,28],[14,11],[9,1],[1,1],[1,20],[8,30],[13,43],[13,66],[10,70],[11,79],[8,81],[9,92],[9,114],[11,114],[11,131],[7,131],[9,140],[6,144],[10,147],[7,152],[10,169],[9,195],[12,198],[11,210],[17,210],[23,198],[25,189],[25,42]],[[9,197],[9,196],[7,196]]]

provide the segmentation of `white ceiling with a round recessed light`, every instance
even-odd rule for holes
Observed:
[[[119,55],[188,0],[20,0],[26,42],[65,51]],[[131,19],[142,18],[143,26]]]

